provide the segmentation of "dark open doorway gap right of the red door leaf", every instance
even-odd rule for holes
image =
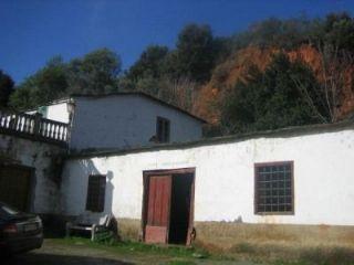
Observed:
[[[169,243],[186,244],[189,215],[192,174],[173,174],[170,199]]]

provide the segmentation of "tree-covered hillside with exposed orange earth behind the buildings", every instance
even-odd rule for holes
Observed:
[[[0,104],[21,110],[72,93],[143,91],[208,119],[209,135],[334,123],[354,110],[353,54],[347,13],[270,18],[227,38],[188,24],[174,49],[147,46],[125,72],[107,49],[55,56],[14,91],[0,82]]]

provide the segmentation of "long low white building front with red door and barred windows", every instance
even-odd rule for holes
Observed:
[[[148,242],[186,242],[207,221],[353,225],[353,121],[83,152],[66,160],[61,205],[137,221]],[[87,194],[97,178],[104,200]]]

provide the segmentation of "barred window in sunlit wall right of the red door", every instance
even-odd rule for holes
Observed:
[[[256,214],[294,212],[293,162],[254,165]]]

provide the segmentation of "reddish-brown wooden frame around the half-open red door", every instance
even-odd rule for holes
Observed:
[[[189,223],[188,223],[188,234],[186,245],[190,245],[191,239],[190,233],[194,229],[195,220],[195,181],[196,181],[196,168],[181,168],[181,169],[157,169],[157,170],[144,170],[143,171],[143,206],[142,206],[142,221],[140,221],[140,234],[142,240],[145,242],[145,226],[147,223],[147,199],[148,199],[148,188],[149,188],[149,177],[166,176],[166,174],[185,174],[191,173],[191,191],[190,191],[190,204],[189,204]],[[170,211],[169,211],[170,214]]]

